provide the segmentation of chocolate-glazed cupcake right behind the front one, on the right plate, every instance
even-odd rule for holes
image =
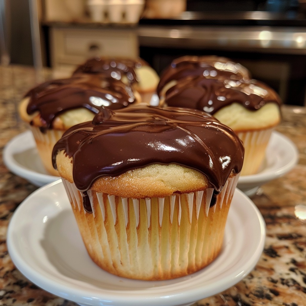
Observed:
[[[189,76],[168,89],[162,103],[204,110],[233,129],[245,149],[241,175],[260,171],[271,133],[281,120],[280,97],[257,80]]]

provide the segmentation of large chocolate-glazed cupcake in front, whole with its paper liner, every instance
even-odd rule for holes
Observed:
[[[236,134],[204,112],[138,105],[72,127],[52,158],[92,260],[161,280],[218,256],[243,154]]]

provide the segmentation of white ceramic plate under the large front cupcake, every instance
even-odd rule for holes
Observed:
[[[187,305],[244,278],[263,251],[265,223],[236,189],[221,254],[208,267],[167,281],[139,281],[95,265],[80,237],[61,181],[33,192],[14,212],[7,245],[16,267],[39,287],[81,305]]]

